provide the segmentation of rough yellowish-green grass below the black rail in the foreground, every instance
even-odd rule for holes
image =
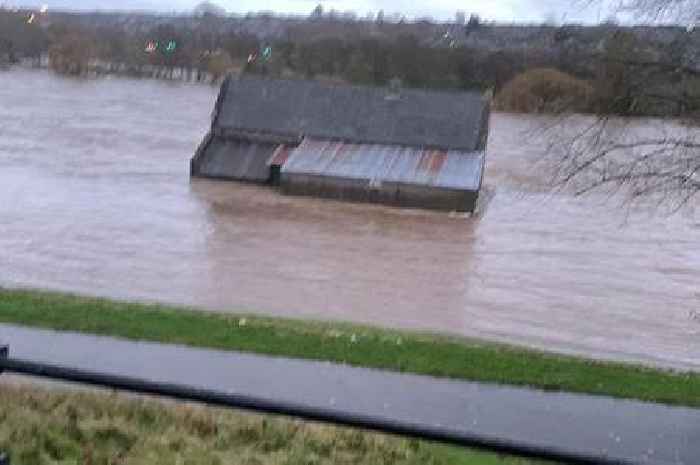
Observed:
[[[0,451],[12,463],[517,465],[346,428],[101,392],[0,384]]]

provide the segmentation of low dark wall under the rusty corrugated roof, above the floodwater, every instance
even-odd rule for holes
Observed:
[[[347,179],[309,174],[282,173],[282,193],[352,202],[378,203],[405,208],[473,212],[478,192],[434,186],[382,183],[370,186],[367,179]]]

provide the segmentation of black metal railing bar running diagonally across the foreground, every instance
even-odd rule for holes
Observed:
[[[484,449],[531,459],[552,460],[570,465],[632,464],[632,462],[611,460],[595,455],[584,456],[565,450],[533,447],[526,444],[503,441],[497,438],[481,437],[447,428],[397,422],[381,417],[358,415],[338,410],[321,409],[252,396],[229,394],[191,386],[159,383],[138,378],[115,376],[27,360],[12,359],[7,358],[7,352],[3,353],[2,348],[0,348],[0,373],[2,373],[3,370],[17,374],[71,381],[140,394],[152,394],[184,401],[202,402],[220,407],[298,417],[310,421],[332,423],[340,426],[349,426],[462,447]]]

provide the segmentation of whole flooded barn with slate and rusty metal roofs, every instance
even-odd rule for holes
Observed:
[[[489,116],[490,99],[478,92],[229,77],[191,174],[473,212]]]

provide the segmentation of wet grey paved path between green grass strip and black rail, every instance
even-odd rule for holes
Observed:
[[[678,465],[700,457],[700,410],[694,409],[7,325],[0,325],[0,341],[10,344],[16,358],[440,426],[568,453]]]

